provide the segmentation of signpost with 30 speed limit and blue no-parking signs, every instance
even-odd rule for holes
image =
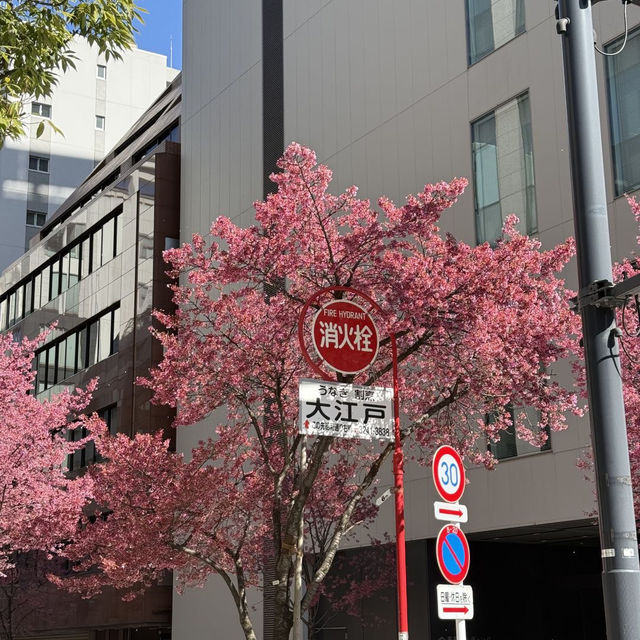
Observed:
[[[462,584],[469,572],[471,553],[469,543],[459,527],[467,522],[467,507],[458,501],[465,488],[465,471],[460,454],[448,445],[440,447],[431,465],[433,484],[445,501],[435,501],[433,512],[437,520],[446,524],[436,539],[436,559],[440,573],[450,584],[436,585],[438,618],[456,621],[457,640],[466,640],[465,620],[473,618],[473,590]]]

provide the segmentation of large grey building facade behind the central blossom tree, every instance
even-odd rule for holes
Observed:
[[[547,247],[572,236],[555,7],[553,0],[185,0],[181,239],[206,232],[218,215],[250,224],[275,158],[293,140],[333,169],[336,191],[356,184],[373,201],[384,194],[401,202],[427,182],[467,176],[469,188],[442,219],[467,243],[494,241],[511,212]],[[597,43],[608,53],[622,44],[623,9],[594,7]],[[628,7],[628,16],[625,49],[597,60],[614,258],[636,248],[623,194],[640,188],[640,9]],[[573,268],[567,282],[575,288]],[[468,471],[470,638],[604,637],[595,489],[576,467],[589,426],[569,422],[544,450],[506,433],[494,448],[497,469]],[[178,434],[178,447],[188,450],[197,437]],[[411,467],[405,479],[410,635],[452,638],[453,626],[429,606],[439,529],[429,470]],[[393,530],[391,501],[377,527]],[[393,634],[393,595],[387,602],[376,629],[337,617],[322,637]],[[242,637],[215,580],[208,591],[174,596],[174,640],[204,640],[214,626]]]

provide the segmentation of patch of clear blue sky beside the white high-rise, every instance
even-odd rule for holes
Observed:
[[[138,4],[148,11],[144,24],[138,25],[138,48],[166,55],[168,64],[173,39],[173,66],[182,69],[182,0],[139,0]]]

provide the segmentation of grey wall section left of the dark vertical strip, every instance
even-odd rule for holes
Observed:
[[[181,241],[220,215],[252,220],[262,197],[262,64],[259,0],[184,0]],[[206,426],[179,429],[189,452]],[[258,637],[261,594],[251,596]],[[214,631],[215,630],[215,631]],[[235,605],[221,580],[173,600],[174,640],[241,640]]]

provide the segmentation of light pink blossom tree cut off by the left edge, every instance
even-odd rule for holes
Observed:
[[[44,338],[0,336],[0,574],[19,552],[52,553],[75,532],[91,493],[89,478],[69,478],[66,456],[86,444],[67,441],[95,383],[50,399],[33,395],[34,349]]]

